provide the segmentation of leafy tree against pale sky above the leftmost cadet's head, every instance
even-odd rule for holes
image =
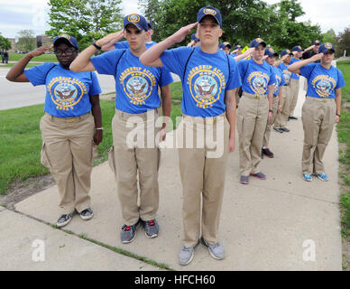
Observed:
[[[107,33],[122,29],[122,0],[50,0],[52,29],[47,35],[68,33],[78,40],[83,50]]]

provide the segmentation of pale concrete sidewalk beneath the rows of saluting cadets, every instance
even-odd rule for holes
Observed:
[[[305,98],[301,88],[302,83],[297,117]],[[251,178],[249,185],[240,184],[238,147],[229,156],[220,222],[225,260],[213,259],[207,248],[199,245],[189,266],[178,265],[182,246],[182,196],[178,154],[173,149],[164,148],[161,152],[161,200],[157,217],[161,232],[158,238],[148,239],[143,228],[138,228],[133,243],[121,243],[119,236],[123,220],[114,176],[107,163],[98,165],[92,173],[94,219],[83,221],[75,216],[65,228],[137,256],[165,263],[176,270],[341,270],[336,131],[324,158],[330,181],[304,182],[300,164],[303,145],[301,120],[290,121],[289,127],[288,134],[272,131],[271,149],[275,158],[264,158],[261,166],[268,176],[266,181]],[[171,134],[167,139],[171,140]],[[16,204],[15,210],[55,224],[59,216],[58,203],[59,192],[57,186],[53,186]],[[134,258],[116,254],[9,210],[0,212],[0,228],[0,256],[3,256],[0,269],[92,269],[88,266],[89,257],[93,260],[93,269],[97,270],[139,270],[140,266],[146,270],[159,269],[141,265]],[[31,261],[32,241],[37,238],[45,241],[47,249],[46,261],[39,265]],[[304,250],[310,248],[307,240],[312,240],[315,245],[315,262],[303,259],[307,252]],[[66,246],[60,248],[63,244]],[[66,254],[60,254],[63,251]]]

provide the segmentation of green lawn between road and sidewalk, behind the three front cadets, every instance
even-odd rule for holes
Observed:
[[[174,100],[182,98],[179,84],[170,85]],[[95,161],[103,163],[108,158],[112,145],[111,121],[115,114],[114,100],[100,100],[104,139],[98,145],[99,157]],[[39,124],[43,115],[43,105],[21,107],[0,111],[0,193],[5,194],[16,181],[40,176],[49,171],[40,163],[41,132]],[[171,118],[181,115],[180,102],[172,105]]]

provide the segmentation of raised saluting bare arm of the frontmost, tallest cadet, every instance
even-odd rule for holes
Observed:
[[[191,29],[195,28],[198,23],[192,23],[180,28],[179,31],[172,34],[162,42],[159,42],[148,50],[144,51],[140,57],[140,61],[146,66],[162,67],[161,53],[169,49],[175,43],[182,42],[190,33]]]

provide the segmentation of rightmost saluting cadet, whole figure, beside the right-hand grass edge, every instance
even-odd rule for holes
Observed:
[[[335,48],[331,43],[323,43],[318,54],[305,61],[290,65],[289,70],[308,79],[308,93],[302,107],[304,147],[302,153],[302,173],[305,181],[312,181],[315,173],[318,179],[328,181],[322,163],[334,125],[339,122],[343,74],[332,66]],[[312,63],[315,61],[321,63]]]

